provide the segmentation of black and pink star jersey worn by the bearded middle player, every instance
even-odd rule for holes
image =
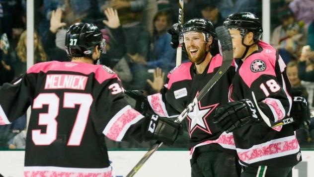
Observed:
[[[216,55],[203,74],[194,74],[195,65],[183,63],[169,72],[167,83],[160,93],[148,96],[154,112],[160,116],[178,116],[193,98],[215,75],[222,65],[223,58]],[[188,113],[185,123],[190,136],[190,155],[196,147],[211,145],[211,149],[235,153],[232,133],[221,133],[212,121],[215,109],[228,102],[228,89],[235,74],[234,64],[215,84],[215,86]]]

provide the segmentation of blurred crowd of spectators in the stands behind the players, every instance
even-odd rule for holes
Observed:
[[[262,17],[262,0],[184,0],[184,21],[203,17],[214,26],[231,13],[249,11]],[[166,31],[178,21],[177,0],[35,0],[34,63],[68,61],[66,29],[75,22],[95,23],[106,40],[99,64],[115,71],[125,89],[158,92],[175,67],[176,50]],[[271,44],[286,62],[293,89],[307,96],[314,111],[314,3],[272,0]],[[0,85],[26,71],[26,0],[0,0]],[[184,56],[184,55],[183,55]],[[184,61],[183,58],[182,60]],[[188,60],[185,60],[188,61]],[[26,115],[0,126],[0,147],[23,148]],[[297,132],[302,147],[314,147],[314,121]],[[184,148],[186,140],[176,143]],[[108,140],[109,141],[109,140]],[[150,143],[108,143],[142,148]]]

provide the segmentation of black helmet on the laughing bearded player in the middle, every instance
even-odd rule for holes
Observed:
[[[193,18],[184,23],[182,35],[190,31],[203,32],[206,35],[206,41],[208,41],[211,36],[213,36],[213,38],[216,36],[213,23],[204,18]]]

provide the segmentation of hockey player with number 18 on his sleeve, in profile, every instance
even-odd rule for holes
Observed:
[[[292,97],[286,65],[278,52],[260,40],[259,18],[231,14],[224,22],[231,33],[236,74],[229,102],[214,117],[222,132],[233,132],[241,177],[287,177],[301,158],[293,125],[271,128],[291,114]]]

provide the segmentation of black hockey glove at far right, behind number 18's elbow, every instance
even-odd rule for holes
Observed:
[[[293,102],[290,111],[290,116],[295,119],[292,123],[293,129],[298,130],[306,124],[310,124],[310,109],[308,107],[308,102],[302,91],[293,91]]]

